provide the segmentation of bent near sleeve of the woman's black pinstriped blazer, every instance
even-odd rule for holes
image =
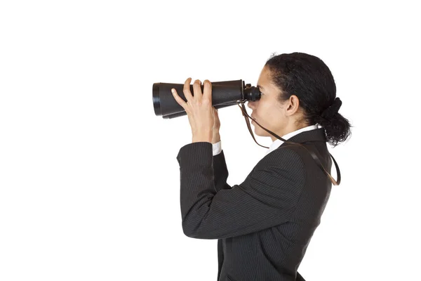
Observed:
[[[177,159],[182,229],[188,237],[221,239],[285,223],[305,185],[305,166],[294,150],[271,152],[243,183],[219,191],[211,143],[185,145]]]

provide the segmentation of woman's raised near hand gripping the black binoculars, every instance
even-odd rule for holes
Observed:
[[[171,89],[173,96],[177,103],[184,108],[189,117],[189,123],[192,127],[193,143],[208,142],[211,143],[213,139],[213,128],[216,125],[219,130],[218,124],[215,124],[214,110],[212,106],[212,85],[210,81],[205,80],[203,84],[203,94],[201,93],[201,81],[195,80],[193,84],[194,96],[190,91],[190,82],[192,78],[187,78],[182,92],[185,94],[187,103],[178,96],[175,89]],[[219,119],[218,119],[219,121]]]

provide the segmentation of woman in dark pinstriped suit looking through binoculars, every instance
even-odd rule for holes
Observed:
[[[335,97],[330,70],[305,53],[269,58],[258,79],[260,100],[248,107],[260,124],[255,133],[274,142],[243,183],[232,187],[210,82],[205,80],[202,94],[201,82],[194,81],[192,96],[190,81],[183,90],[187,103],[173,90],[193,134],[193,142],[177,156],[183,232],[218,239],[218,280],[304,280],[297,269],[332,183],[305,148],[283,143],[260,126],[290,142],[306,143],[330,173],[326,142],[335,146],[350,134],[348,120],[338,113],[342,102]]]

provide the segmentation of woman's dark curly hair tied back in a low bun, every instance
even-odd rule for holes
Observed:
[[[350,136],[349,121],[338,113],[342,101],[336,98],[335,80],[320,58],[307,53],[272,54],[265,66],[281,90],[278,100],[283,103],[291,95],[297,96],[304,122],[323,126],[330,145],[335,147]]]

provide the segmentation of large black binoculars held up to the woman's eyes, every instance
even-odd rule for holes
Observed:
[[[258,87],[246,84],[243,80],[218,81],[212,84],[212,105],[216,109],[236,105],[237,101],[245,102],[247,100],[260,100],[260,91]],[[171,119],[187,115],[184,108],[177,103],[173,97],[171,89],[175,89],[178,96],[187,102],[184,96],[184,84],[154,83],[152,87],[152,100],[156,116],[162,116],[164,119]],[[194,95],[193,85],[190,85],[190,91]],[[203,85],[201,85],[203,93]]]

